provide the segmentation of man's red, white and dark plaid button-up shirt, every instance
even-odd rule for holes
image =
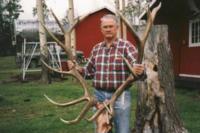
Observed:
[[[97,44],[84,67],[85,77],[93,78],[95,88],[118,88],[130,74],[121,55],[134,64],[137,50],[130,42],[121,39],[116,40],[110,48],[106,47],[105,42]]]

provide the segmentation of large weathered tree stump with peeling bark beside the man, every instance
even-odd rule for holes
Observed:
[[[138,82],[136,133],[187,133],[175,104],[167,26],[155,26],[145,47],[147,80]]]

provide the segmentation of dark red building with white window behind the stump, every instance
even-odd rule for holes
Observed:
[[[156,24],[168,25],[173,53],[176,85],[199,88],[200,85],[200,1],[156,0],[162,2]]]

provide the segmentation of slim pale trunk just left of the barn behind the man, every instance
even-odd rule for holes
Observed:
[[[70,25],[74,23],[74,1],[73,0],[68,0],[69,4],[69,10],[68,10],[68,19]],[[71,48],[73,51],[73,55],[76,56],[76,32],[75,29],[73,29],[71,33]]]

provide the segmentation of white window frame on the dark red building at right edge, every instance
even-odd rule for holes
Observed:
[[[194,23],[199,23],[199,25],[197,25],[198,32],[197,32],[197,36],[198,36],[198,42],[192,42],[192,25]],[[193,19],[189,21],[189,47],[200,47],[200,19]]]

